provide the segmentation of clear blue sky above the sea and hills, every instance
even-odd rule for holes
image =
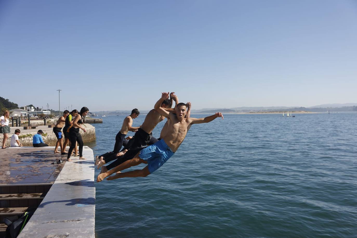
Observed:
[[[0,96],[58,110],[356,102],[357,1],[0,0]],[[18,84],[18,86],[15,86]],[[28,86],[27,86],[28,85]]]

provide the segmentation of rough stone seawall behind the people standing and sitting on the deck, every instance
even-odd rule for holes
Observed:
[[[31,123],[32,124],[32,123]],[[53,133],[53,128],[49,128],[49,127],[45,127],[45,126],[41,126],[37,127],[36,130],[22,130],[22,128],[20,128],[21,133],[19,135],[19,141],[22,143],[22,146],[32,146],[32,137],[37,134],[38,130],[42,130],[44,133],[42,134],[42,139],[44,140],[44,142],[46,144],[48,144],[49,146],[55,146],[56,142],[57,142],[57,138],[55,133]],[[79,130],[80,134],[82,136],[82,140],[83,142],[90,142],[90,141],[94,141],[95,140],[95,127],[90,125],[90,124],[83,124],[83,127],[85,127],[86,132]],[[10,147],[10,138],[11,136],[14,134],[13,132],[15,131],[15,129],[13,129],[14,127],[11,127],[11,133],[9,133],[9,138],[6,141],[6,146]],[[17,127],[16,127],[17,128]],[[26,132],[29,131],[29,132]],[[0,137],[0,143],[2,145],[2,140],[3,140],[3,136],[1,135]]]

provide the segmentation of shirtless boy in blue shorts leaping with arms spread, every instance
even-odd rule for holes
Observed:
[[[110,176],[107,178],[107,180],[124,177],[146,177],[160,168],[172,155],[174,155],[186,137],[188,126],[198,123],[207,123],[213,121],[217,117],[222,117],[223,119],[223,115],[220,112],[205,118],[185,118],[187,113],[187,107],[185,103],[177,104],[176,115],[174,113],[167,112],[164,110],[164,108],[161,107],[161,103],[168,97],[169,93],[163,92],[161,98],[156,102],[154,107],[157,112],[167,117],[168,126],[166,135],[154,145],[141,150],[133,159],[125,161],[110,171],[99,174],[97,177],[97,182],[101,182],[104,178],[115,172],[119,173],[116,173],[114,176]],[[137,169],[130,172],[120,172],[123,169],[136,166],[141,163],[147,163],[148,165],[141,170]]]

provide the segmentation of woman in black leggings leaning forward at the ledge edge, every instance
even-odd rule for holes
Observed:
[[[71,141],[71,147],[68,150],[68,155],[67,155],[67,161],[72,161],[71,153],[76,146],[76,141],[78,142],[79,145],[79,159],[86,159],[83,157],[83,141],[82,141],[82,136],[79,133],[79,128],[81,128],[84,132],[86,132],[86,129],[81,126],[81,124],[85,123],[85,116],[88,114],[89,109],[87,107],[82,107],[81,111],[77,116],[74,118],[73,121],[73,126],[69,130],[69,139]]]

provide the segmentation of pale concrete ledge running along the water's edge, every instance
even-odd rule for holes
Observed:
[[[53,147],[49,147],[53,150]],[[19,238],[95,237],[94,162],[91,148],[71,157]],[[65,159],[66,157],[62,157]]]

